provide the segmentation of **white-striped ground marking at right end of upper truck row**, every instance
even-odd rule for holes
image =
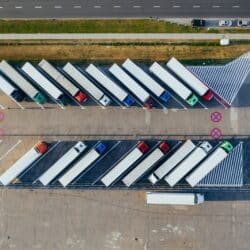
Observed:
[[[223,66],[188,66],[229,105],[250,73],[250,52]]]

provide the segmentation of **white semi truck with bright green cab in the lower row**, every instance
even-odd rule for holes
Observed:
[[[186,181],[190,186],[196,186],[210,171],[222,162],[232,150],[233,145],[230,142],[223,142],[221,146],[215,149],[207,159],[186,177]]]

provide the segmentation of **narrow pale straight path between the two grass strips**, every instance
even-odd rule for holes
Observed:
[[[232,40],[250,40],[249,34],[211,34],[211,33],[89,33],[89,34],[0,34],[0,40],[71,40],[71,39],[193,39],[193,40],[218,40],[226,36]]]

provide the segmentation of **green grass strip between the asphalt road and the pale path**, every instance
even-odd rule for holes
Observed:
[[[0,33],[185,33],[200,29],[151,19],[0,20]]]

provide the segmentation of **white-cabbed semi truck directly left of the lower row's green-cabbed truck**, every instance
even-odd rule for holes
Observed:
[[[212,150],[212,145],[204,141],[191,152],[164,180],[173,187],[185,175],[187,175],[195,166],[197,166],[208,153]]]

